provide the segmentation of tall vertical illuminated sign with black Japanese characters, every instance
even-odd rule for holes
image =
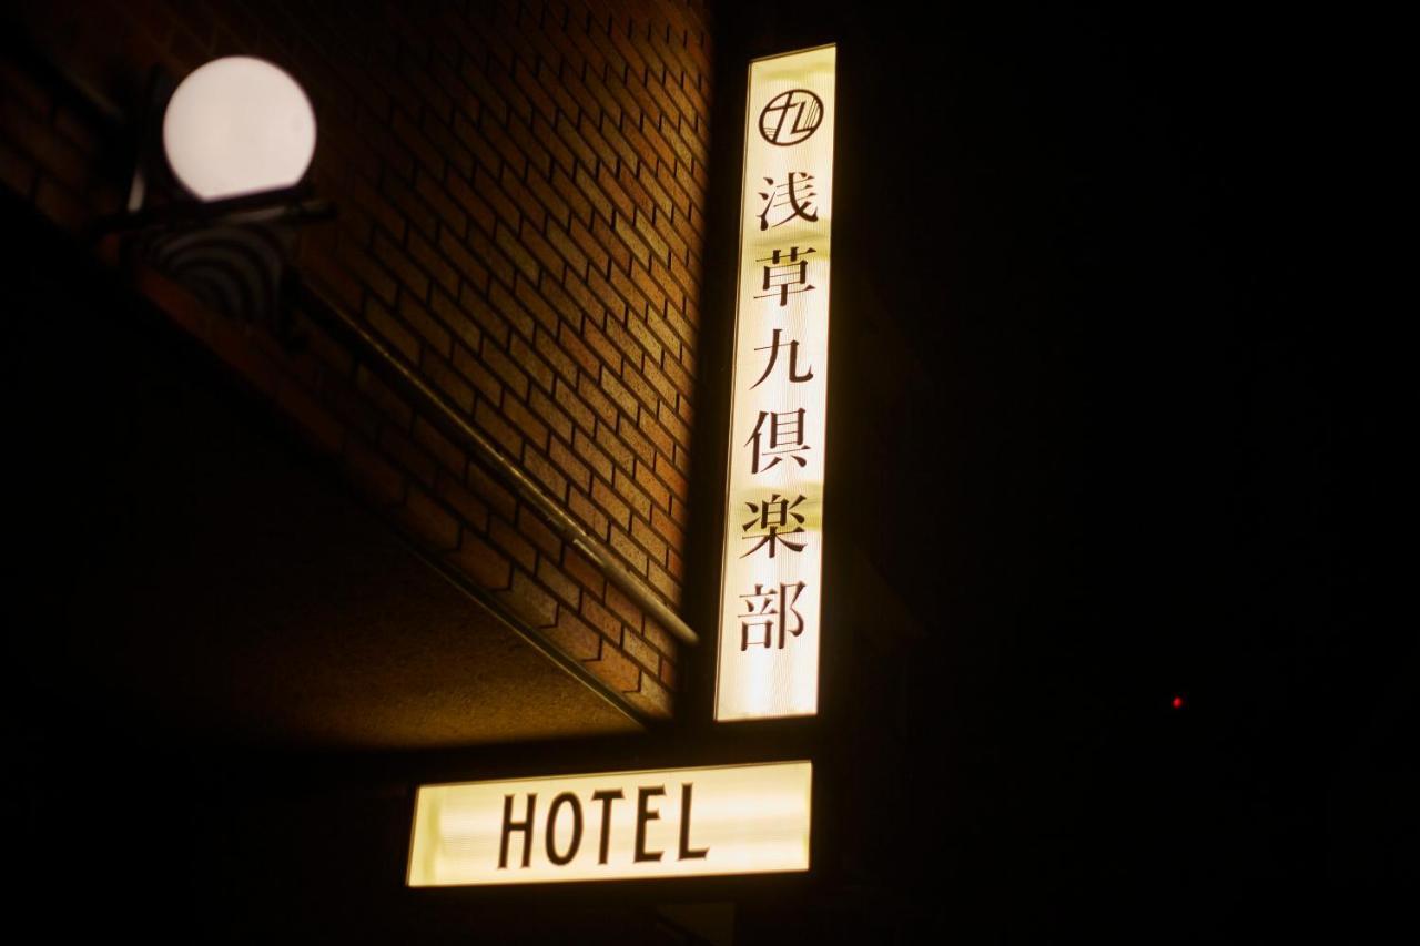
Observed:
[[[835,54],[750,64],[717,720],[818,712]]]

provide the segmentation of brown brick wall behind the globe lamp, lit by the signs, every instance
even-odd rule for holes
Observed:
[[[460,4],[462,7],[462,4]],[[128,108],[153,64],[230,54],[308,91],[339,207],[301,274],[470,419],[672,609],[682,598],[706,158],[706,13],[537,4],[20,4],[43,60]],[[0,180],[80,230],[121,206],[121,125],[0,57]],[[314,325],[305,344],[146,291],[280,403],[426,551],[650,714],[670,635]],[[366,359],[368,361],[368,359]]]

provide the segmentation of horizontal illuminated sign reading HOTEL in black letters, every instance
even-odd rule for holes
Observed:
[[[807,761],[423,785],[409,886],[808,869]]]

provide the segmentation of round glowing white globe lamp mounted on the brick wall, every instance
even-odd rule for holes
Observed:
[[[266,60],[213,60],[168,102],[163,151],[203,200],[290,187],[311,166],[315,112],[297,81]]]

